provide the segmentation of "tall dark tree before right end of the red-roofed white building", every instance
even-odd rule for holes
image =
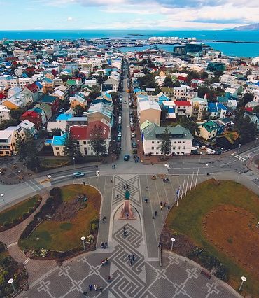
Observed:
[[[92,138],[90,140],[90,146],[94,151],[95,155],[99,158],[100,155],[106,155],[107,144],[104,139],[104,128],[101,126],[94,125],[91,131]]]

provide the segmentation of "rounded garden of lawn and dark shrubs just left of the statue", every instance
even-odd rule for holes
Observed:
[[[64,260],[94,250],[99,227],[101,194],[89,185],[66,185],[50,190],[50,198],[22,233],[19,246],[27,257]]]

